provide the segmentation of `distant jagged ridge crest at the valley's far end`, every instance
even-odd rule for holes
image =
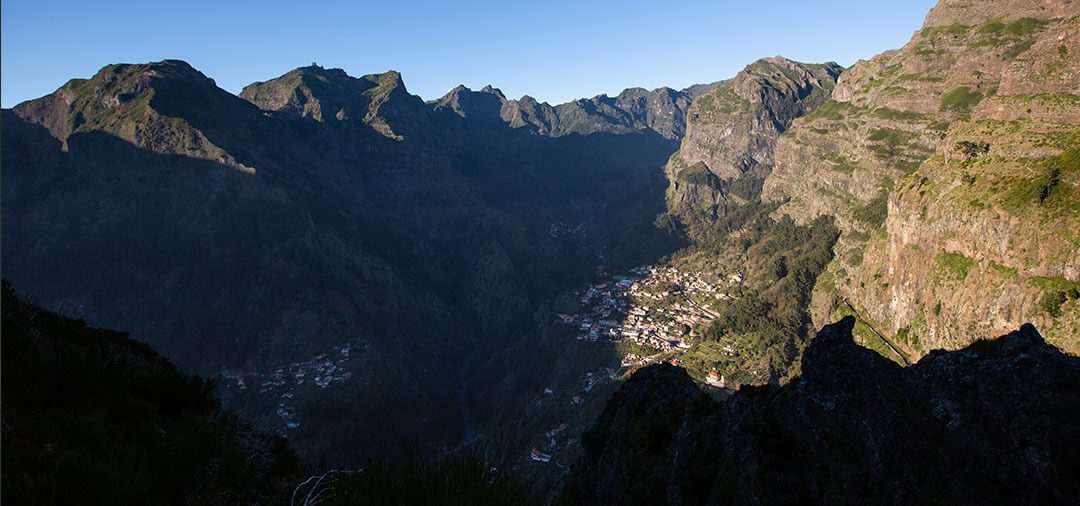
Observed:
[[[599,95],[553,107],[527,95],[519,100],[509,100],[491,86],[473,92],[461,85],[429,105],[436,111],[449,110],[462,118],[485,122],[501,121],[512,128],[551,137],[651,131],[677,140],[686,129],[687,108],[696,94],[707,86],[680,92],[669,87],[651,92],[633,87],[615,98]]]

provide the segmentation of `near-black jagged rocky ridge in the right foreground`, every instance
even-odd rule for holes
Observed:
[[[1034,326],[907,368],[823,328],[785,386],[717,402],[640,370],[582,438],[564,504],[1066,504],[1080,359]]]

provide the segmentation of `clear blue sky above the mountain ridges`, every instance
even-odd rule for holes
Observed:
[[[3,0],[3,107],[113,63],[178,58],[229,92],[318,61],[399,70],[424,99],[458,84],[559,104],[681,88],[764,56],[845,67],[902,46],[934,0]]]

